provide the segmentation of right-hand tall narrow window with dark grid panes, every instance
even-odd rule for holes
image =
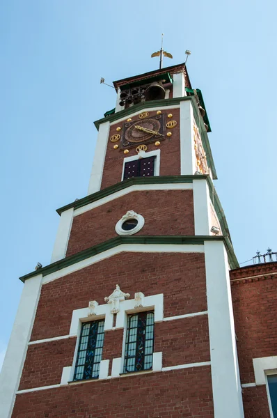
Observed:
[[[124,373],[152,369],[154,312],[129,315],[125,343]]]

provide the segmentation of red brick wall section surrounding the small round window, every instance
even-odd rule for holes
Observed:
[[[192,190],[132,192],[74,217],[67,256],[118,236],[116,223],[127,210],[145,219],[136,235],[194,234]]]

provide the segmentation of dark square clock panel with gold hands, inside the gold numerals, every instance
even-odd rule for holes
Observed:
[[[129,148],[164,139],[164,115],[125,122],[120,140],[120,148]]]

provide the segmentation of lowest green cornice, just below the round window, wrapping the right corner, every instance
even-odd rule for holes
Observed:
[[[108,249],[113,247],[118,247],[118,245],[122,244],[129,244],[129,245],[137,245],[137,244],[158,244],[158,245],[203,245],[205,241],[223,241],[225,243],[225,247],[228,254],[228,261],[230,263],[230,267],[232,269],[238,268],[239,264],[237,263],[237,258],[235,257],[234,251],[232,249],[232,245],[230,240],[227,236],[129,236],[129,237],[121,237],[118,236],[116,238],[111,238],[101,244],[94,245],[88,249],[84,249],[84,251],[80,251],[73,256],[65,257],[62,260],[56,261],[56,263],[52,263],[46,265],[45,267],[40,268],[40,270],[35,270],[29,274],[25,274],[22,277],[19,277],[21,281],[25,281],[26,279],[30,279],[38,274],[42,274],[42,276],[47,276],[48,274],[54,273],[58,270],[62,270],[70,265],[75,263],[79,263],[79,261],[86,260],[91,256],[95,256],[96,254],[100,254]]]

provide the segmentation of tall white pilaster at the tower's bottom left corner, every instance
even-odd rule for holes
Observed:
[[[42,274],[25,281],[0,375],[0,418],[10,418],[22,373],[35,311],[38,305]]]

